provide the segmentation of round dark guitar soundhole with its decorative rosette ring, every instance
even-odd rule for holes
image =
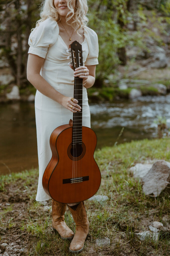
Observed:
[[[86,153],[86,147],[82,142],[82,145],[76,144],[72,146],[72,143],[69,145],[67,154],[71,160],[77,161],[80,160]],[[74,158],[74,159],[73,159]]]

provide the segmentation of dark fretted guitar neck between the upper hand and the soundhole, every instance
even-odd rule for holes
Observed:
[[[81,111],[73,113],[72,145],[82,144],[82,103],[83,103],[83,79],[74,78],[74,99],[78,100]]]

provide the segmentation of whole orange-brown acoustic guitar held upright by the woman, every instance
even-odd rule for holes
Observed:
[[[72,68],[83,66],[82,46],[70,45]],[[83,79],[74,78],[74,98],[81,111],[73,121],[57,127],[50,136],[52,157],[43,175],[43,188],[55,201],[75,203],[93,196],[100,187],[101,174],[94,159],[97,144],[95,132],[82,126]]]

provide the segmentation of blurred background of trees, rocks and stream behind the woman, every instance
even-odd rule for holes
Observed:
[[[0,174],[38,166],[35,88],[27,81],[28,38],[41,1],[0,5]],[[97,148],[169,135],[170,0],[88,1],[99,40],[88,89]]]

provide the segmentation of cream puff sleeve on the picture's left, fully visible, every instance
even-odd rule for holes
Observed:
[[[28,53],[38,55],[45,59],[48,47],[53,46],[59,34],[59,27],[55,20],[44,20],[30,34]]]

